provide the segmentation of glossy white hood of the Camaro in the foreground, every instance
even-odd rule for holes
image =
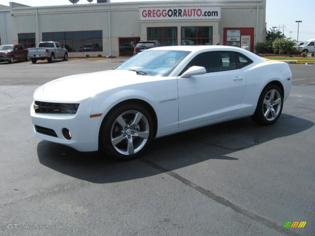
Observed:
[[[77,101],[118,87],[157,80],[155,76],[137,75],[129,70],[106,70],[66,76],[39,87],[34,99]]]

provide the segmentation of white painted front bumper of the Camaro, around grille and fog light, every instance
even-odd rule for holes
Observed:
[[[90,118],[93,105],[92,98],[78,101],[77,103],[80,103],[80,105],[76,114],[43,114],[35,113],[33,102],[30,111],[35,137],[54,143],[61,143],[78,151],[97,151],[101,117]],[[41,132],[35,126],[51,129],[57,137],[48,132]],[[71,131],[72,138],[70,140],[64,137],[62,133],[63,128]]]

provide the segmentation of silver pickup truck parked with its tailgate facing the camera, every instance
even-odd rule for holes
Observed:
[[[68,50],[59,42],[40,42],[38,48],[28,48],[27,56],[32,63],[37,60],[47,59],[48,62],[54,62],[55,59],[68,60]]]

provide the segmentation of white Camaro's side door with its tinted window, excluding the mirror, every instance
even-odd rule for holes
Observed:
[[[237,69],[234,53],[201,53],[181,74],[193,65],[205,67],[207,73],[189,78],[178,76],[179,127],[236,114],[246,80]]]

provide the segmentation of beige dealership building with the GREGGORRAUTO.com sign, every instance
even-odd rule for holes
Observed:
[[[81,0],[84,1],[84,0]],[[69,57],[132,55],[140,40],[230,45],[254,52],[266,36],[266,0],[150,1],[30,7],[0,5],[2,44],[57,41]]]

